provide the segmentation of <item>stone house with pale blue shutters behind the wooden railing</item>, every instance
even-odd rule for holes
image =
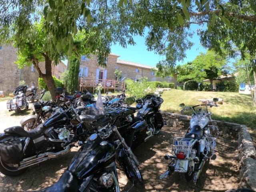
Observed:
[[[109,54],[106,68],[98,66],[98,59],[95,55],[81,57],[79,77],[90,77],[96,79],[115,80],[115,70],[122,71],[121,80],[130,78],[138,81],[142,77],[148,78],[148,81],[166,81],[174,82],[173,77],[156,77],[152,69],[154,67],[134,63],[130,61],[118,60],[119,55]]]

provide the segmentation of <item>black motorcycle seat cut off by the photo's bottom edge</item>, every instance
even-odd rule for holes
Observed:
[[[65,171],[60,179],[54,183],[52,186],[41,189],[36,192],[70,192],[78,191],[78,181],[74,174],[70,171]]]

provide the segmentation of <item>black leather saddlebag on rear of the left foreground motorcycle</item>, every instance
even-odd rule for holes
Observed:
[[[20,139],[0,143],[0,156],[7,164],[19,164],[23,156]]]

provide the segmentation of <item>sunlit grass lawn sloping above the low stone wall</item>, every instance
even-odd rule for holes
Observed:
[[[200,104],[198,99],[222,98],[223,105],[212,107],[212,118],[214,120],[234,122],[245,124],[251,130],[256,130],[256,108],[252,105],[250,95],[233,93],[233,92],[204,92],[204,91],[187,91],[187,90],[171,90],[162,94],[164,103],[161,110],[166,112],[180,114],[180,103],[186,106],[194,106]],[[192,114],[186,113],[186,114]]]

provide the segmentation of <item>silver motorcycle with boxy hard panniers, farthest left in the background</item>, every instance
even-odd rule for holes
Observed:
[[[7,101],[7,109],[9,112],[14,110],[16,113],[18,113],[22,110],[22,108],[28,109],[28,102],[25,95],[26,90],[27,86],[19,86],[14,90],[13,99]]]

